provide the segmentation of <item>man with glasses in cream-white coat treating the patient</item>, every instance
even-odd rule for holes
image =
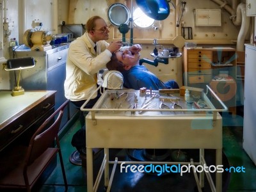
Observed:
[[[141,51],[140,45],[121,47],[122,41],[108,44],[109,28],[105,20],[99,16],[93,16],[86,22],[86,32],[83,36],[74,40],[68,49],[66,63],[66,79],[64,83],[65,97],[70,99],[76,108],[81,108],[86,99],[97,89],[97,72],[106,68],[112,53],[129,49],[131,52]],[[93,99],[88,102],[86,108],[92,108],[100,97],[100,93],[94,93]],[[78,131],[72,139],[72,145],[80,154],[85,153],[84,141],[84,115],[81,115],[82,130]]]

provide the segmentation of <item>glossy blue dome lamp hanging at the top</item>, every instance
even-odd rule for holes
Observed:
[[[170,5],[166,0],[136,0],[141,10],[150,18],[164,20],[170,14]]]

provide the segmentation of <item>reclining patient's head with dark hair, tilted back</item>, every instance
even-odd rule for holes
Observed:
[[[139,65],[140,52],[132,54],[131,51],[116,51],[112,54],[111,60],[107,63],[108,70],[120,72],[129,70],[134,65]]]

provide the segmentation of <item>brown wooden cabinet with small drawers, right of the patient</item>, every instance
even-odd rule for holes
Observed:
[[[184,84],[212,90],[236,113],[236,49],[231,47],[184,48]],[[213,99],[213,98],[212,98]],[[217,104],[214,99],[212,102]]]

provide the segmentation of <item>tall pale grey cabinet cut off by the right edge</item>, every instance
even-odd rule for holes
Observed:
[[[245,71],[244,71],[244,127],[243,127],[243,148],[256,164],[256,47],[252,44],[245,46]]]

